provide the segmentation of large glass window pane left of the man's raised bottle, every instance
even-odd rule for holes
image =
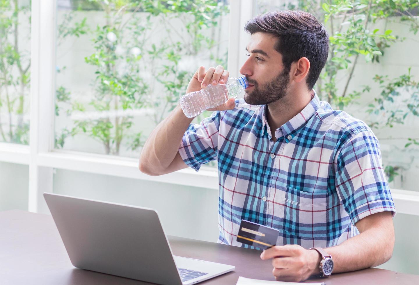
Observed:
[[[139,157],[198,67],[226,67],[226,1],[57,5],[58,149]]]

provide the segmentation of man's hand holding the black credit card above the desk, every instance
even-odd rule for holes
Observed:
[[[311,275],[320,274],[321,256],[316,250],[297,244],[273,246],[261,254],[261,259],[272,258],[272,274],[277,281],[301,282]]]

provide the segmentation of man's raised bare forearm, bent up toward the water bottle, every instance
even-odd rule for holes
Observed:
[[[180,105],[153,130],[140,155],[140,170],[158,175],[175,158],[186,129],[193,118],[187,118]]]

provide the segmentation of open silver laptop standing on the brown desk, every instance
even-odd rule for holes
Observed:
[[[195,284],[232,265],[174,256],[157,211],[44,193],[71,263],[158,284]]]

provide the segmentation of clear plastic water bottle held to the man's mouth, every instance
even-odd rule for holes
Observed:
[[[224,104],[232,97],[236,98],[248,86],[246,76],[228,77],[226,84],[209,84],[205,89],[183,95],[180,98],[181,108],[186,117],[192,118],[204,110]]]

